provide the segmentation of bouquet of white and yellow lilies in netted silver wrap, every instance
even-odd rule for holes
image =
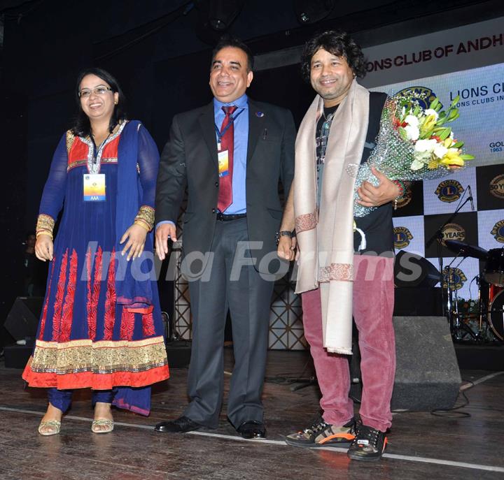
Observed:
[[[463,142],[454,139],[451,128],[446,126],[459,117],[458,96],[447,111],[440,111],[437,98],[429,108],[423,108],[425,96],[406,90],[386,100],[376,146],[367,162],[358,166],[353,196],[355,217],[364,217],[376,208],[357,203],[357,189],[362,182],[378,184],[372,166],[390,180],[432,180],[449,175],[452,170],[463,168],[466,160],[474,159],[462,153]]]

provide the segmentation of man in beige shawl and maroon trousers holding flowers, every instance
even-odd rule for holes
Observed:
[[[288,435],[294,446],[347,444],[355,460],[378,460],[391,426],[395,374],[392,201],[400,185],[377,170],[363,182],[361,205],[378,207],[353,219],[353,189],[379,131],[386,94],[370,93],[363,53],[345,33],[325,31],[305,45],[302,72],[317,95],[297,133],[295,179],[281,231],[297,233],[296,293],[314,359],[323,414]],[[281,236],[279,256],[293,259],[296,240]],[[352,314],[363,377],[360,419],[349,398]]]

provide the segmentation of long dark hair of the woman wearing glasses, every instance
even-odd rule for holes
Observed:
[[[110,85],[113,93],[117,92],[119,94],[118,103],[116,106],[114,106],[109,124],[109,131],[112,133],[114,127],[118,123],[126,119],[126,98],[116,78],[114,78],[113,75],[105,71],[103,68],[96,68],[96,67],[85,68],[78,75],[75,90],[75,96],[77,102],[77,115],[73,119],[73,126],[71,127],[71,132],[74,135],[78,135],[81,137],[85,137],[91,134],[91,125],[89,118],[87,117],[82,107],[80,106],[80,98],[78,96],[80,89],[80,82],[82,82],[83,78],[86,75],[96,75],[97,77],[104,80],[104,82],[106,82],[108,85]]]

